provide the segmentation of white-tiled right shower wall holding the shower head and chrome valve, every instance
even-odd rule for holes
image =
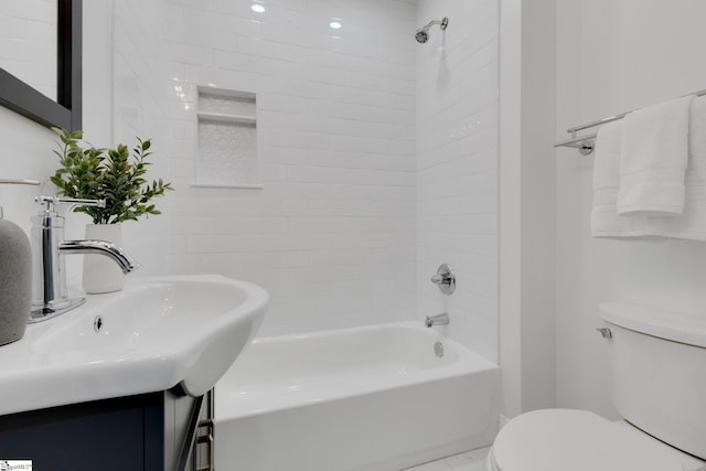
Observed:
[[[417,26],[449,18],[416,44],[417,312],[448,312],[451,336],[498,361],[496,0],[421,0]],[[457,290],[429,281],[449,264]]]

